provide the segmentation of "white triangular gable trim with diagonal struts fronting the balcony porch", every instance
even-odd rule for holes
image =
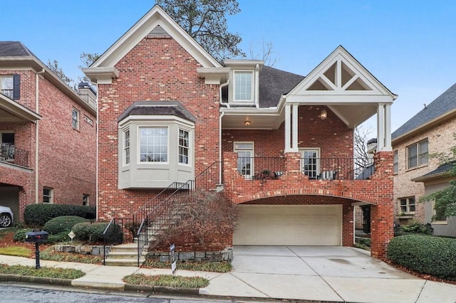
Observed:
[[[324,73],[336,64],[336,75],[334,81],[329,80]],[[353,78],[347,83],[342,83],[342,65],[346,65],[348,70],[354,73]],[[326,90],[309,90],[318,79],[319,83]],[[366,90],[347,90],[354,82],[366,85]],[[336,97],[337,98],[334,98]],[[348,53],[342,46],[338,46],[328,57],[323,60],[314,70],[307,75],[293,90],[286,94],[286,102],[393,102],[397,95],[390,92],[380,81],[378,81],[358,60]]]

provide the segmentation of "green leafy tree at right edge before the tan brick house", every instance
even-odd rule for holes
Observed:
[[[453,134],[456,140],[456,132]],[[456,145],[450,148],[448,153],[432,154],[430,157],[440,160],[440,165],[450,164],[450,169],[446,172],[447,176],[456,177]],[[420,202],[425,201],[435,202],[435,216],[437,218],[456,216],[456,180],[450,181],[450,186],[443,188],[440,191],[435,191],[427,196],[420,198]]]

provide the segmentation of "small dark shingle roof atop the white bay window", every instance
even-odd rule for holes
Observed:
[[[196,122],[196,118],[178,101],[136,101],[118,117],[118,122],[128,116],[176,116]]]

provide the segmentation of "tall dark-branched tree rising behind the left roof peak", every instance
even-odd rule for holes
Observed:
[[[215,59],[245,56],[238,48],[242,38],[227,31],[225,16],[240,11],[236,0],[157,0],[157,4]]]

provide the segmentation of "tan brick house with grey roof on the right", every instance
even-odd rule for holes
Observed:
[[[398,223],[411,220],[430,223],[432,202],[418,203],[425,194],[448,186],[447,166],[429,154],[446,153],[455,146],[456,84],[392,134],[394,200]],[[432,223],[437,235],[456,235],[455,218],[440,216]]]

